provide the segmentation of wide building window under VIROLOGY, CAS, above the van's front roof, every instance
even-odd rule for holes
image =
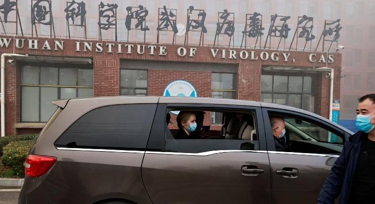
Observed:
[[[316,78],[312,76],[261,76],[260,100],[314,112],[316,100]]]

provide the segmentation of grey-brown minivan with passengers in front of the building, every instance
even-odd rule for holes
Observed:
[[[353,133],[301,109],[190,97],[95,97],[58,108],[25,162],[18,204],[312,204]],[[180,111],[205,139],[176,139]],[[285,120],[278,152],[270,116]]]

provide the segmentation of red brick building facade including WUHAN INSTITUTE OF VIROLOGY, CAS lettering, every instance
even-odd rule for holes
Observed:
[[[340,53],[20,36],[0,36],[0,40],[0,54],[28,55],[5,58],[5,135],[37,133],[45,123],[42,120],[22,119],[22,111],[27,111],[22,110],[22,107],[29,107],[29,104],[25,99],[22,101],[21,87],[53,88],[52,85],[44,86],[40,83],[37,86],[22,83],[22,77],[27,77],[27,74],[21,69],[29,65],[64,67],[69,64],[79,67],[84,64],[93,70],[92,90],[95,97],[121,95],[121,70],[127,69],[147,71],[145,95],[149,96],[162,96],[169,83],[186,80],[195,87],[198,97],[212,97],[212,73],[233,73],[235,98],[254,101],[262,100],[262,75],[314,76],[311,83],[316,84],[316,91],[314,108],[311,110],[326,118],[329,116],[330,78],[326,77],[327,71],[314,68],[330,67],[335,71],[333,98],[340,98]],[[10,63],[9,59],[14,61]],[[60,88],[66,87],[59,86],[57,98],[62,95]],[[40,98],[42,96],[39,101]]]

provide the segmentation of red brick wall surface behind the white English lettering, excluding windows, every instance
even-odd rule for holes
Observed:
[[[12,38],[13,36],[0,36],[5,38]],[[22,37],[19,37],[22,38]],[[141,59],[141,60],[163,60],[163,61],[184,61],[184,62],[205,62],[205,63],[229,63],[237,64],[237,98],[244,100],[260,100],[260,76],[262,65],[277,65],[277,66],[294,66],[294,67],[329,67],[335,68],[335,88],[334,88],[334,99],[340,98],[340,67],[341,67],[341,54],[335,53],[334,63],[319,63],[319,58],[321,53],[317,54],[317,61],[312,63],[308,60],[308,56],[311,52],[299,52],[299,51],[277,51],[277,50],[265,50],[269,56],[272,52],[278,52],[280,59],[278,61],[272,61],[268,59],[263,61],[258,57],[257,60],[251,60],[250,51],[255,51],[255,56],[258,56],[264,50],[249,50],[248,59],[240,59],[239,52],[241,49],[233,49],[237,52],[237,59],[228,58],[228,52],[226,53],[226,58],[221,58],[221,52],[218,51],[217,56],[214,58],[211,54],[211,47],[198,47],[198,46],[183,46],[183,45],[165,45],[167,47],[166,55],[159,55],[159,49],[155,50],[155,55],[150,55],[150,50],[146,49],[144,54],[137,53],[136,43],[126,43],[132,44],[133,53],[128,54],[127,48],[122,47],[122,53],[117,53],[117,43],[112,47],[112,53],[108,53],[108,47],[105,46],[107,41],[93,41],[87,40],[86,42],[92,42],[92,51],[76,51],[75,41],[80,41],[83,43],[85,40],[76,39],[62,39],[64,41],[64,50],[54,50],[53,38],[48,39],[48,42],[52,50],[41,50],[44,41],[47,38],[24,38],[24,47],[22,49],[13,50],[14,41],[12,40],[7,48],[2,47],[0,49],[0,54],[2,53],[20,53],[29,55],[44,55],[44,56],[64,56],[64,57],[89,57],[93,59],[93,69],[94,69],[94,96],[115,96],[119,95],[119,61],[120,59]],[[38,39],[38,49],[28,49],[27,39]],[[60,40],[60,39],[56,39]],[[96,52],[95,43],[103,43],[103,52]],[[149,44],[146,44],[147,46]],[[151,44],[150,44],[151,45]],[[157,46],[163,46],[159,44]],[[187,55],[180,57],[177,55],[177,50],[179,47],[185,47],[187,49]],[[196,54],[194,57],[189,57],[189,48],[195,47]],[[81,50],[83,46],[81,46]],[[227,49],[227,48],[223,48]],[[289,61],[284,62],[282,53],[291,53],[289,56]],[[323,53],[326,54],[326,53]],[[294,59],[294,60],[293,60]],[[7,60],[6,60],[7,61]],[[14,128],[16,123],[20,122],[20,111],[19,111],[19,67],[16,65],[11,65],[5,63],[5,131],[6,135],[17,134],[17,130]],[[192,85],[197,89],[198,96],[210,97],[211,96],[211,74],[210,72],[187,72],[187,71],[168,71],[168,70],[149,70],[149,88],[148,94],[153,96],[160,96],[163,93],[164,88],[167,84],[173,80],[184,79],[192,83]],[[329,79],[324,78],[324,73],[318,84],[318,97],[317,97],[317,113],[328,117],[329,112]],[[19,130],[19,132],[24,133],[25,130]]]

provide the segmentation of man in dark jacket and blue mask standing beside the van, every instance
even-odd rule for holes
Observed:
[[[359,99],[356,125],[360,131],[345,142],[318,197],[318,204],[374,204],[375,94]]]

